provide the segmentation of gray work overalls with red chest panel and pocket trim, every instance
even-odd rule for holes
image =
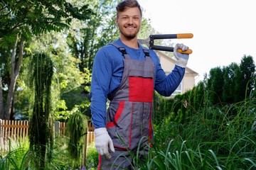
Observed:
[[[112,45],[117,47],[124,56],[124,72],[119,88],[108,96],[110,107],[106,115],[106,128],[114,143],[115,152],[110,151],[111,159],[100,157],[99,168],[134,169],[130,163],[132,157],[129,152],[137,155],[139,150],[141,159],[145,159],[149,146],[146,143],[149,144],[153,140],[151,116],[154,62],[149,57],[148,50],[144,50],[145,60],[132,60],[124,47]],[[111,168],[112,164],[115,166]]]

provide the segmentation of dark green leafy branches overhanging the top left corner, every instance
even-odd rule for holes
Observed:
[[[31,35],[69,28],[73,18],[87,20],[92,15],[88,5],[78,8],[65,0],[55,1],[0,1],[0,31],[3,42],[14,42],[16,33]]]

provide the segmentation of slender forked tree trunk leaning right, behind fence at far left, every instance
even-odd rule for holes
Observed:
[[[14,43],[14,48],[11,53],[11,84],[8,88],[8,96],[6,101],[6,112],[4,114],[4,119],[9,120],[11,115],[11,104],[13,103],[14,98],[14,90],[16,86],[16,80],[18,78],[18,73],[21,69],[21,62],[23,59],[23,47],[24,47],[24,40],[21,38],[20,47],[18,51],[18,62],[15,61],[16,56],[16,47],[18,43],[18,34],[16,35],[16,42]]]

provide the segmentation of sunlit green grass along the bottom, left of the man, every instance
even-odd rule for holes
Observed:
[[[46,162],[46,170],[70,170],[70,169],[97,169],[97,151],[94,145],[87,147],[87,166],[74,166],[75,162],[71,159],[68,152],[68,137],[56,137],[53,148],[53,161]],[[38,170],[36,164],[31,162],[31,154],[28,139],[9,140],[7,149],[0,150],[0,170]],[[36,159],[41,159],[39,156]]]

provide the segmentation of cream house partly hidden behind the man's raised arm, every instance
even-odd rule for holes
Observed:
[[[162,69],[164,69],[164,72],[166,72],[166,74],[169,74],[171,70],[174,69],[176,60],[166,55],[164,52],[160,52],[157,50],[155,52],[159,56]],[[181,84],[171,96],[175,96],[176,94],[183,94],[184,92],[193,89],[197,76],[197,72],[193,71],[193,69],[186,67],[186,72],[183,80],[181,81]]]

